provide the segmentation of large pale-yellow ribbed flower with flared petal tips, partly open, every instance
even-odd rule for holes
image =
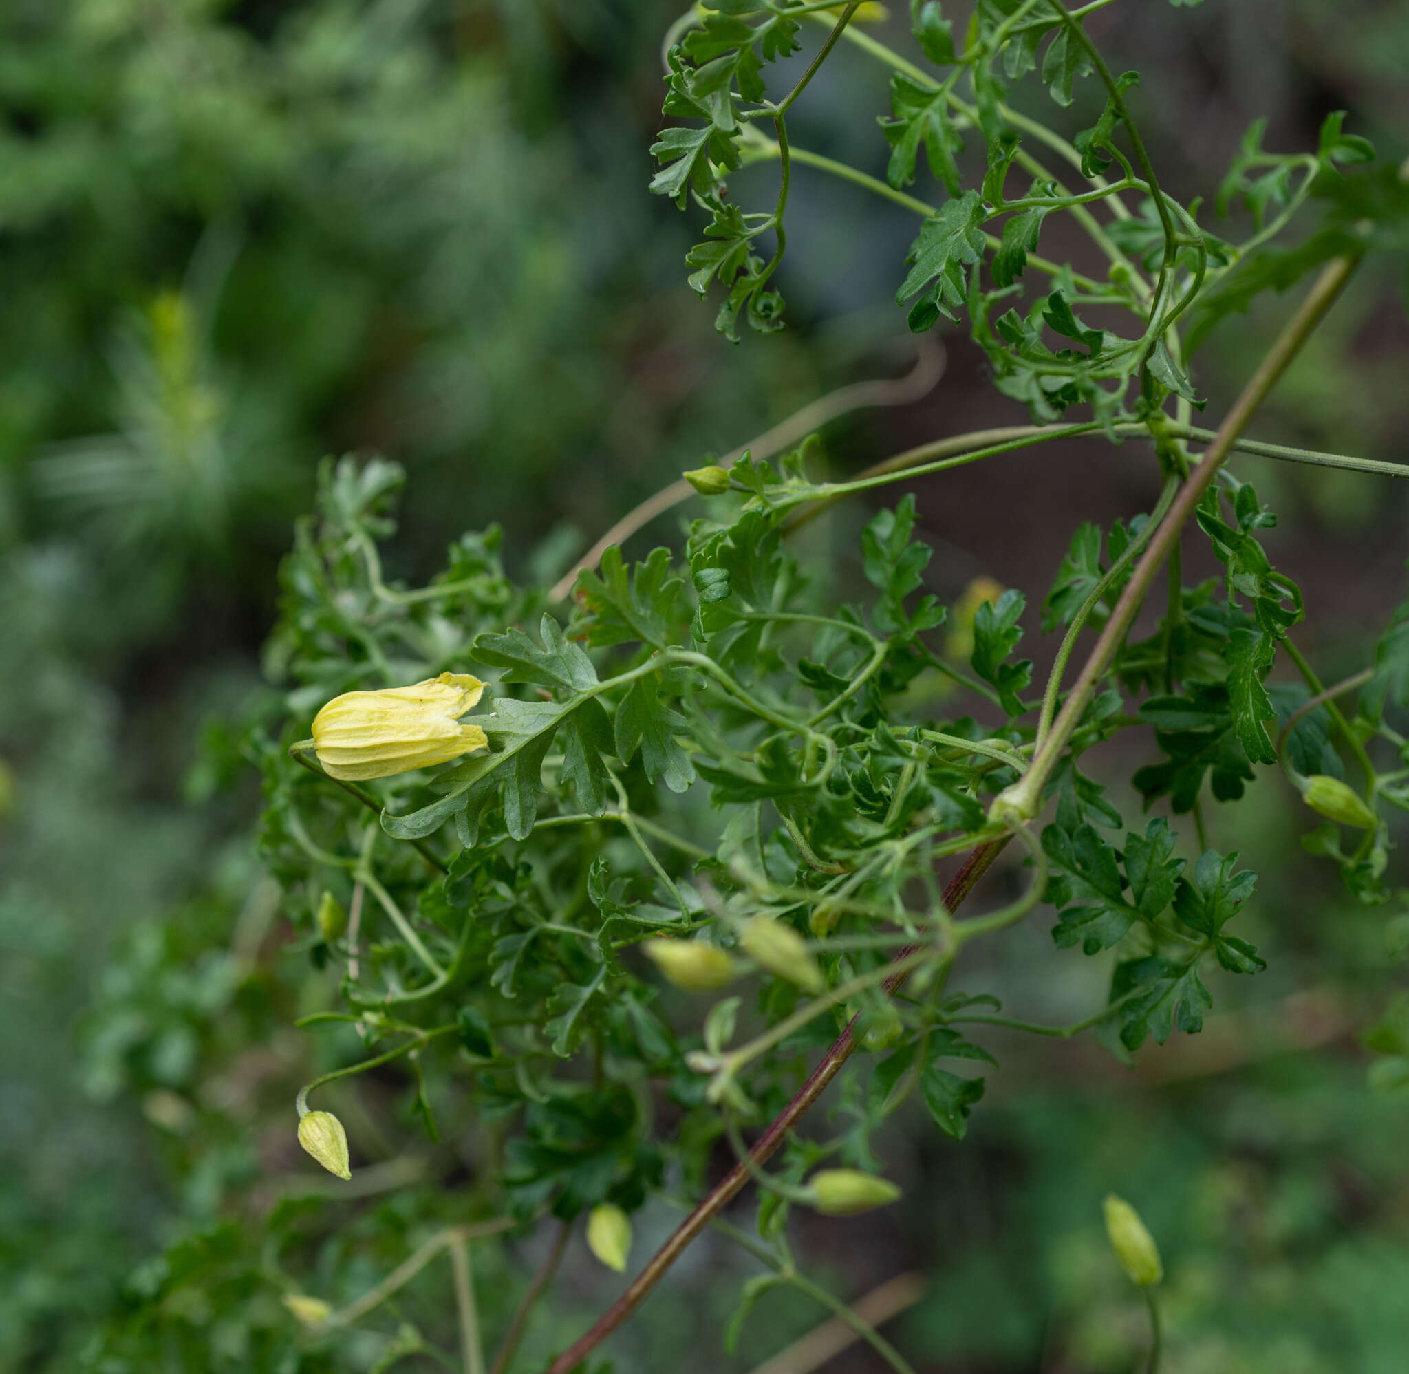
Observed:
[[[479,678],[442,672],[409,688],[344,692],[313,717],[313,747],[330,778],[359,782],[447,764],[489,745],[465,714],[485,691]]]

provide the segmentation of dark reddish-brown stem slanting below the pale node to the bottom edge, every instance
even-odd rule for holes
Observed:
[[[998,858],[1007,836],[999,840],[989,840],[969,851],[964,867],[954,875],[944,889],[944,908],[951,915],[958,910],[962,900],[974,891],[979,878],[988,872],[989,865]],[[906,958],[916,951],[917,946],[903,948],[896,961]],[[893,974],[883,984],[886,992],[895,992],[905,982],[905,971]],[[821,1096],[827,1084],[841,1071],[851,1051],[857,1047],[851,1036],[851,1027],[837,1036],[836,1043],[817,1063],[817,1067],[807,1077],[807,1081],[797,1089],[793,1099],[782,1109],[778,1118],[754,1143],[750,1156],[755,1167],[761,1165],[788,1139],[788,1132],[797,1125],[807,1113],[807,1109]],[[748,1165],[735,1164],[720,1182],[717,1182],[703,1202],[675,1229],[669,1240],[661,1246],[651,1257],[651,1261],[631,1281],[616,1302],[607,1308],[597,1319],[596,1325],[578,1337],[557,1360],[548,1367],[548,1374],[569,1374],[588,1354],[595,1350],[607,1336],[612,1335],[640,1305],[645,1295],[665,1277],[665,1271],[685,1253],[690,1242],[710,1223],[710,1220],[724,1208],[724,1205],[748,1182]]]

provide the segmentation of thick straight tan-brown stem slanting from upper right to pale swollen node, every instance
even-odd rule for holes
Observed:
[[[1160,523],[1160,528],[1146,548],[1144,557],[1126,583],[1126,589],[1110,613],[1110,619],[1106,621],[1096,647],[1076,676],[1065,706],[1062,706],[1061,713],[1053,723],[1043,747],[1033,755],[1031,767],[1019,782],[1002,792],[995,800],[995,816],[1007,819],[1009,815],[1013,815],[1023,820],[1030,820],[1041,810],[1043,786],[1048,776],[1051,776],[1057,760],[1067,745],[1067,740],[1081,723],[1086,705],[1095,693],[1096,683],[1105,676],[1115,661],[1116,652],[1124,641],[1136,613],[1144,603],[1146,592],[1150,589],[1155,572],[1168,559],[1174,541],[1179,537],[1185,521],[1193,514],[1203,499],[1203,493],[1212,485],[1217,469],[1233,448],[1233,441],[1247,427],[1248,421],[1257,413],[1258,406],[1267,399],[1292,358],[1301,351],[1302,344],[1310,337],[1312,330],[1316,328],[1340,295],[1357,262],[1358,258],[1334,258],[1327,264],[1322,275],[1316,279],[1315,286],[1312,286],[1310,293],[1282,328],[1282,333],[1272,344],[1271,351],[1262,359],[1251,380],[1243,388],[1241,395],[1234,402],[1213,442],[1209,444],[1198,468],[1193,469],[1178,499],[1169,507],[1168,516]]]

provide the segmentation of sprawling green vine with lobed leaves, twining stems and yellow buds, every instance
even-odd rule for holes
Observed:
[[[1405,476],[1246,431],[1360,261],[1403,248],[1409,189],[1339,114],[1315,152],[1265,152],[1254,131],[1220,190],[1248,209],[1253,233],[1241,242],[1208,233],[1198,207],[1158,182],[1138,132],[1137,76],[1115,76],[1086,32],[1105,3],[981,0],[960,35],[934,0],[916,0],[927,65],[858,28],[869,7],[855,0],[693,8],[666,48],[665,113],[690,123],[662,132],[652,189],[710,216],[688,262],[696,290],[723,283],[721,333],[778,328],[792,179],[812,166],[914,210],[921,224],[898,290],[910,328],[967,317],[995,385],[1031,424],[936,440],[848,481],[820,481],[809,445],[779,468],[744,455],[693,469],[690,488],[713,505],[683,555],[658,548],[628,567],[610,547],[581,571],[569,606],[506,574],[496,528],[459,538],[426,585],[389,581],[380,544],[400,469],[325,465],[285,564],[269,647],[290,719],[278,743],[256,734],[249,745],[268,799],[262,853],[310,965],[294,979],[297,1026],[327,1039],[327,1065],[297,1094],[297,1137],[358,1188],[358,1137],[379,1130],[361,1089],[380,1087],[433,1146],[455,1143],[469,1181],[393,1192],[345,1226],[286,1202],[262,1225],[225,1220],[183,1237],[134,1280],[94,1367],[178,1368],[217,1335],[221,1356],[244,1368],[389,1368],[416,1356],[454,1367],[437,1346],[454,1330],[462,1368],[476,1371],[480,1275],[499,1253],[488,1240],[541,1229],[541,1268],[497,1323],[502,1374],[578,1218],[590,1216],[589,1242],[616,1267],[628,1263],[628,1215],[683,1194],[679,1227],[644,1264],[634,1249],[630,1285],[547,1361],[550,1374],[588,1367],[710,1226],[765,1267],[730,1325],[731,1349],[752,1330],[752,1305],[788,1288],[910,1370],[805,1273],[796,1211],[893,1201],[875,1139],[907,1099],[962,1139],[985,1079],[958,1070],[996,1063],[981,1043],[991,1036],[1091,1030],[1127,1058],[1200,1032],[1216,970],[1267,968],[1239,933],[1257,879],[1206,838],[1206,796],[1239,802],[1258,767],[1281,764],[1329,822],[1310,847],[1360,902],[1388,899],[1385,807],[1409,805],[1409,745],[1394,723],[1409,705],[1409,617],[1396,616],[1372,664],[1323,685],[1292,640],[1301,589],[1261,543],[1275,516],[1227,462],[1244,451]],[[816,55],[771,100],[768,65],[799,48],[805,25],[817,25]],[[795,103],[843,42],[893,73],[888,182],[789,137]],[[1009,86],[1037,70],[1061,109],[1078,80],[1096,85],[1096,123],[1068,141],[1009,106]],[[985,151],[974,185],[957,156],[965,138]],[[905,190],[921,151],[947,192],[937,206]],[[1068,189],[1048,154],[1084,189]],[[728,194],[727,175],[748,161],[779,166],[769,209],[745,211]],[[1031,183],[1010,196],[1014,169]],[[1134,209],[1122,199],[1131,193]],[[1313,196],[1322,225],[1277,247]],[[1102,276],[1038,254],[1053,216],[1085,230]],[[1227,414],[1215,428],[1193,424],[1196,344],[1230,311],[1310,273]],[[937,647],[947,616],[917,595],[930,550],[914,538],[913,496],[862,531],[865,600],[838,605],[792,552],[793,534],[845,497],[1084,434],[1151,455],[1160,493],[1148,513],[1075,531],[1041,602],[1044,629],[1062,637],[1040,695],[1033,664],[1016,657],[1017,589],[974,598],[972,624],[950,641],[967,662]],[[1223,576],[1184,583],[1186,534],[1208,540]],[[1161,575],[1162,614],[1137,637]],[[1099,633],[1086,641],[1086,629]],[[1068,675],[1074,655],[1081,667]],[[1278,658],[1299,686],[1267,683]],[[455,729],[440,703],[469,672],[476,689],[459,705],[475,713],[445,744]],[[421,705],[389,709],[392,691]],[[1347,716],[1340,700],[1355,691]],[[960,714],[961,700],[975,714]],[[1096,781],[1086,754],[1116,737],[1141,741],[1151,760],[1130,779],[1146,805],[1191,819],[1192,861],[1168,819],[1127,824]],[[382,767],[461,745],[465,757],[434,775]],[[1016,895],[960,915],[1005,854],[1017,860]],[[947,860],[958,864],[941,884]],[[978,951],[1009,944],[1044,903],[1058,947],[1112,961],[1105,996],[1069,1025],[1003,1015],[982,974]],[[755,994],[748,1006],[744,989]],[[1399,1012],[1374,1044],[1394,1056],[1377,1078],[1402,1081]],[[821,1054],[809,1072],[812,1048]],[[805,1134],[833,1082],[847,1125]],[[152,1112],[182,1118],[161,1096]],[[713,1181],[717,1141],[737,1160]],[[720,1216],[751,1184],[755,1234]],[[382,1185],[376,1175],[368,1187]],[[1154,1368],[1162,1261],[1129,1205],[1113,1206],[1109,1225],[1150,1295]],[[378,1264],[392,1254],[395,1265]],[[426,1270],[440,1296],[413,1320],[400,1302]],[[397,1313],[395,1329],[383,1312]]]

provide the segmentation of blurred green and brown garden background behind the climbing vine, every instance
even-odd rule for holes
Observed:
[[[713,333],[681,266],[699,225],[645,190],[675,13],[0,10],[6,1370],[80,1367],[132,1309],[151,1254],[216,1218],[256,1229],[271,1178],[297,1168],[297,967],[255,865],[258,782],[237,740],[279,710],[259,650],[317,459],[380,451],[409,468],[392,572],[424,575],[461,530],[499,521],[510,565],[551,576],[681,469],[910,366],[888,300],[913,221],[816,178],[793,189],[789,330],[737,348]],[[905,27],[892,18],[900,44]],[[1382,156],[1409,151],[1403,3],[1129,0],[1091,28],[1117,69],[1143,70],[1153,154],[1182,197],[1212,193],[1255,116],[1279,149],[1315,147],[1344,109]],[[878,171],[883,110],[885,73],[841,51],[795,137]],[[1402,268],[1367,268],[1258,435],[1409,462],[1403,304]],[[1281,309],[1205,345],[1209,414]],[[827,461],[851,469],[1022,419],[952,337],[930,396],[833,424]],[[954,598],[988,574],[1040,595],[1082,519],[1148,503],[1153,469],[1134,458],[1062,445],[920,482],[933,589]],[[1403,595],[1405,495],[1350,474],[1239,471],[1282,514],[1270,547],[1306,589],[1302,647],[1327,681],[1361,667]],[[852,565],[864,516],[834,520],[817,551]],[[1012,1046],[962,1146],[898,1127],[903,1211],[800,1223],[803,1253],[848,1298],[926,1275],[890,1329],[916,1368],[1129,1368],[1143,1308],[1105,1249],[1112,1188],[1165,1250],[1169,1370],[1409,1367],[1409,1101],[1367,1089],[1357,1039],[1406,981],[1385,937],[1398,908],[1358,908],[1313,867],[1296,846],[1306,820],[1271,776],[1254,805],[1212,819],[1215,843],[1262,875],[1248,934],[1272,964],[1247,1005],[1219,982],[1230,1019],[1136,1070],[1093,1044]],[[1071,1019],[1099,995],[1102,972],[1058,955],[1041,922],[1000,958],[991,972],[1019,1015]],[[669,1223],[645,1213],[638,1243]],[[490,1313],[531,1258],[486,1261]],[[719,1332],[751,1271],[709,1239],[617,1339],[619,1367],[745,1370],[817,1320],[765,1299],[743,1342],[754,1358],[728,1360]],[[526,1357],[614,1292],[575,1249]],[[189,1320],[201,1354],[162,1367],[285,1367],[254,1353],[256,1318]],[[827,1366],[875,1367],[864,1351]]]

